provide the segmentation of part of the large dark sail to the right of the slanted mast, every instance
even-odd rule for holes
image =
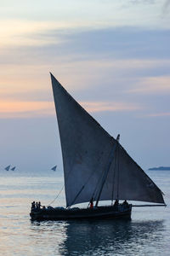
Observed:
[[[161,190],[121,145],[116,150],[115,160],[112,162],[100,200],[105,200],[107,194],[112,195],[112,199],[165,203]]]

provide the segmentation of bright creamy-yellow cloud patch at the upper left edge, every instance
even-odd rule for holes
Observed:
[[[57,29],[58,32],[72,27],[78,27],[76,23],[32,20],[0,20],[2,34],[1,48],[20,46],[42,46],[46,44],[61,44],[61,38],[51,38],[47,32]],[[49,29],[50,27],[50,29]],[[46,36],[43,37],[43,32]],[[41,35],[41,36],[40,36]]]

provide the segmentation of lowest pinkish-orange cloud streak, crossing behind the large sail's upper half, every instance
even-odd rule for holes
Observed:
[[[128,102],[80,102],[90,113],[136,111],[139,104]],[[54,102],[0,102],[0,118],[35,118],[55,115]]]

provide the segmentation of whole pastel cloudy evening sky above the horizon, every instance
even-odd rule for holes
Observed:
[[[49,72],[148,169],[170,166],[170,1],[0,0],[0,170],[62,171]]]

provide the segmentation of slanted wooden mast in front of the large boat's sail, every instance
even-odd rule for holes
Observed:
[[[110,170],[111,163],[112,163],[112,160],[113,160],[113,157],[114,157],[114,154],[115,154],[115,151],[116,151],[116,147],[117,147],[117,143],[119,142],[119,139],[120,139],[120,134],[117,135],[117,137],[116,137],[116,143],[115,143],[114,147],[113,147],[112,150],[111,150],[111,156],[110,156],[109,164],[108,164],[107,169],[105,169],[104,177],[103,177],[102,182],[101,182],[101,187],[100,187],[100,189],[99,189],[99,195],[98,195],[98,198],[97,198],[95,207],[98,206],[99,197],[100,197],[100,195],[101,195],[102,189],[103,189],[104,184],[105,184],[106,177],[107,177],[108,172],[109,172],[109,170]]]

